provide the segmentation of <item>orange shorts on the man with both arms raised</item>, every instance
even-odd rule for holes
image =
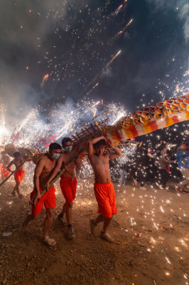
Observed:
[[[116,197],[112,182],[107,184],[95,182],[94,190],[98,203],[98,213],[105,218],[112,218],[112,214],[117,214]]]

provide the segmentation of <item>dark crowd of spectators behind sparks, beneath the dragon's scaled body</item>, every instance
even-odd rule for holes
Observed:
[[[154,146],[148,143],[146,147],[139,142],[135,145],[134,152],[130,152],[130,146],[125,145],[123,150],[126,155],[110,162],[112,179],[119,186],[131,180],[142,190],[147,190],[148,183],[168,190],[168,180],[172,180],[177,192],[186,192],[189,184],[189,145],[185,142],[173,145],[163,140]]]

